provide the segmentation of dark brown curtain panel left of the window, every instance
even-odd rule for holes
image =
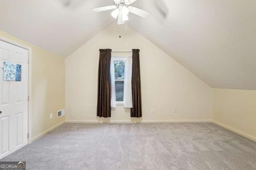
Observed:
[[[97,116],[111,117],[111,49],[100,49]]]

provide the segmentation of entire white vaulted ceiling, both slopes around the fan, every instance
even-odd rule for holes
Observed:
[[[0,0],[0,29],[60,56],[114,21],[112,0]],[[256,90],[255,0],[138,0],[128,25],[214,88]]]

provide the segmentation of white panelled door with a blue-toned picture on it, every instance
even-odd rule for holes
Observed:
[[[3,81],[4,61],[21,64],[21,81]],[[0,159],[28,144],[28,50],[0,41]]]

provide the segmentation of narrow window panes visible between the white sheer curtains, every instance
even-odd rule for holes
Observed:
[[[116,102],[124,101],[125,61],[114,60]]]

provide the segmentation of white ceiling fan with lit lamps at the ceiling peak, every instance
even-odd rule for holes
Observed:
[[[141,10],[139,8],[135,8],[133,6],[129,6],[130,4],[132,4],[135,1],[136,0],[114,0],[116,5],[104,6],[104,7],[100,7],[100,8],[92,8],[92,10],[94,12],[102,12],[102,11],[115,9],[111,13],[111,15],[115,19],[118,17],[118,25],[124,24],[125,21],[129,20],[129,18],[128,18],[129,12],[136,14],[140,17],[147,18],[151,14],[151,12]]]

